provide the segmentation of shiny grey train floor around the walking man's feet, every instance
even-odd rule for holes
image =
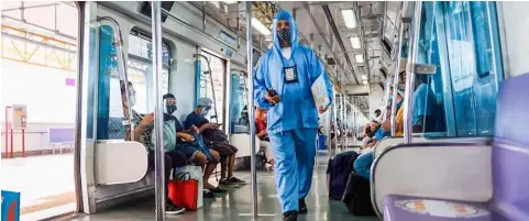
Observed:
[[[327,189],[327,153],[319,153],[318,167],[312,176],[312,189],[307,197],[308,214],[300,216],[300,221],[377,221],[374,217],[354,217],[340,201],[329,200]],[[250,181],[249,172],[239,172],[235,176]],[[213,178],[214,179],[214,178]],[[246,221],[252,220],[251,186],[246,185],[229,189],[224,196],[206,199],[203,208],[198,211],[186,211],[184,214],[167,216],[167,220],[175,221]],[[145,221],[155,220],[154,199],[123,206],[91,216],[73,219],[74,221]],[[280,206],[276,194],[274,174],[272,172],[257,173],[257,210],[260,221],[282,220]]]

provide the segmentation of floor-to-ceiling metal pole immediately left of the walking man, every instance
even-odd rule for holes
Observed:
[[[250,147],[251,147],[251,158],[250,158],[250,168],[252,173],[252,218],[257,218],[257,173],[255,172],[255,111],[253,111],[254,107],[254,99],[253,99],[253,40],[252,40],[252,2],[246,1],[246,63],[247,63],[247,85],[249,85],[249,120],[250,120]],[[250,77],[252,76],[252,77]]]

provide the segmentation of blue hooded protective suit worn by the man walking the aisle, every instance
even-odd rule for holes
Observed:
[[[277,36],[277,22],[286,20],[290,25],[291,56],[285,58]],[[260,58],[254,74],[254,99],[267,111],[268,135],[275,155],[277,195],[283,212],[298,211],[298,200],[304,199],[312,183],[316,155],[316,132],[318,110],[312,98],[312,82],[323,75],[332,104],[333,91],[324,67],[316,53],[299,45],[297,26],[287,11],[279,11],[274,18],[274,45]],[[284,67],[295,67],[296,82],[286,82]],[[280,97],[272,104],[265,99],[269,88]]]

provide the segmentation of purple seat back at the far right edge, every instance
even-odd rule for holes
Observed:
[[[514,220],[529,220],[529,74],[499,87],[493,144],[493,203]]]

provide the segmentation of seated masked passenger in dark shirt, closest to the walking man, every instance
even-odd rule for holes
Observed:
[[[245,181],[233,176],[233,169],[235,166],[235,154],[239,150],[233,145],[230,145],[227,139],[224,139],[225,141],[219,142],[217,137],[212,137],[214,134],[222,132],[219,131],[220,124],[210,123],[205,118],[208,114],[208,111],[211,110],[211,99],[200,98],[198,100],[198,104],[195,111],[187,115],[185,126],[186,129],[197,126],[198,133],[201,134],[205,141],[211,145],[211,148],[219,152],[221,157],[221,180],[219,183],[220,185],[228,187],[245,185]],[[219,135],[222,136],[222,134]]]

